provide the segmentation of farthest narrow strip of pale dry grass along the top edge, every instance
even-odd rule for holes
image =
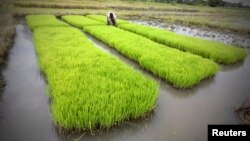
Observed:
[[[119,9],[119,10],[156,10],[156,11],[197,11],[187,5],[172,5],[167,3],[139,2],[139,1],[35,1],[35,0],[17,0],[15,6],[20,7],[44,7],[44,8],[78,8],[78,9]]]

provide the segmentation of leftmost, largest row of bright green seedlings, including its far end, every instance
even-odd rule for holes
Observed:
[[[154,109],[159,87],[155,81],[94,47],[78,29],[54,27],[58,21],[53,27],[38,22],[51,16],[26,18],[38,27],[33,28],[38,63],[48,80],[53,121],[60,129],[110,128]]]

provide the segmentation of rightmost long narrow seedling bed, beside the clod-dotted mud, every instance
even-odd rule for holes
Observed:
[[[220,42],[180,35],[168,30],[139,24],[121,24],[118,26],[158,43],[200,55],[221,64],[236,63],[244,60],[247,56],[247,52],[244,49]]]

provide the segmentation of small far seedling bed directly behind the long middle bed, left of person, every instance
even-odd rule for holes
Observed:
[[[62,16],[62,19],[79,28],[82,28],[83,26],[89,26],[89,25],[104,25],[103,22],[93,20],[93,19],[80,16],[80,15]]]

